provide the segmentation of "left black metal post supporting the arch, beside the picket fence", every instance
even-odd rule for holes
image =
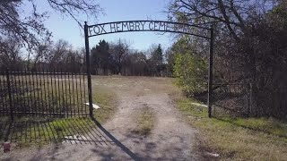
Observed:
[[[86,65],[87,65],[87,77],[88,77],[88,93],[89,93],[89,111],[92,117],[92,97],[91,97],[91,63],[90,63],[90,47],[89,47],[89,34],[88,24],[84,21],[84,41],[86,48]]]

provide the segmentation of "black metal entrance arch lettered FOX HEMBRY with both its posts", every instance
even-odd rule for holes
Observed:
[[[193,32],[193,29],[206,30],[206,35],[198,35]],[[195,24],[178,23],[173,21],[112,21],[107,23],[100,23],[94,25],[88,25],[84,23],[84,38],[86,49],[86,64],[87,64],[87,76],[88,76],[88,92],[89,92],[89,107],[90,115],[92,116],[92,97],[91,97],[91,64],[90,64],[90,47],[89,38],[106,35],[111,33],[120,32],[135,32],[135,31],[161,31],[171,33],[181,33],[199,38],[205,38],[210,40],[210,53],[209,53],[209,72],[208,72],[208,115],[212,116],[212,107],[210,105],[212,82],[213,82],[213,27],[205,28]],[[208,34],[208,31],[210,31]]]

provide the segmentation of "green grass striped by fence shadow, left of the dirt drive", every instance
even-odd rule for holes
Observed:
[[[51,142],[62,142],[67,136],[83,135],[87,129],[93,126],[88,118],[69,119],[41,119],[18,118],[13,124],[13,143],[18,148],[31,146],[44,146]]]

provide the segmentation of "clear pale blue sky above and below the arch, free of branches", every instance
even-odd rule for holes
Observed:
[[[42,0],[39,0],[42,3]],[[98,0],[100,7],[104,9],[104,15],[100,15],[97,20],[89,20],[89,25],[109,22],[109,21],[129,21],[129,20],[167,20],[167,14],[163,13],[167,9],[170,0]],[[38,3],[39,4],[39,3]],[[47,11],[48,4],[39,4],[40,10]],[[48,10],[49,19],[45,22],[48,30],[53,33],[53,40],[63,38],[71,43],[75,48],[84,47],[83,31],[76,21],[70,17],[63,17]],[[86,19],[83,16],[83,20]],[[161,44],[163,48],[170,47],[173,38],[170,34],[156,32],[126,32],[102,35],[90,38],[90,47],[95,46],[100,39],[116,41],[124,38],[134,49],[148,49],[152,44]]]

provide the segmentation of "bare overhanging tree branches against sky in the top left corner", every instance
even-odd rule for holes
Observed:
[[[46,2],[54,11],[72,16],[79,25],[81,25],[81,14],[96,18],[98,13],[102,12],[100,5],[92,0],[46,0]],[[24,3],[31,4],[31,12],[21,9]],[[30,54],[33,47],[39,46],[40,42],[51,36],[44,26],[47,18],[48,12],[39,11],[35,0],[1,0],[0,37],[17,39]]]

